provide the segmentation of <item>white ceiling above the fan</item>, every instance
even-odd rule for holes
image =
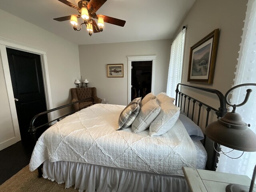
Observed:
[[[78,0],[70,0],[77,5]],[[1,0],[0,9],[76,44],[99,44],[171,39],[195,0],[108,0],[97,11],[126,20],[124,27],[105,23],[90,37],[85,28],[74,31],[69,21],[53,18],[78,14],[58,0]],[[1,18],[2,19],[2,18]],[[81,23],[82,19],[78,19]]]

